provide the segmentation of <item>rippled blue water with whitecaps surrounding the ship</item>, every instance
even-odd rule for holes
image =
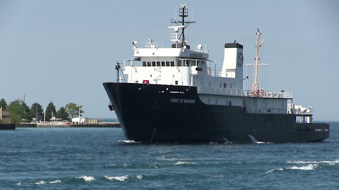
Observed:
[[[119,128],[0,131],[0,189],[338,189],[339,122],[302,144],[139,144]]]

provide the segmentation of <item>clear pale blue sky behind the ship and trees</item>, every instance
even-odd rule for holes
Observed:
[[[133,58],[131,42],[171,46],[168,27],[179,4],[188,4],[189,20],[196,21],[186,30],[188,44],[206,45],[218,69],[224,44],[234,40],[244,46],[244,63],[254,62],[259,28],[265,39],[261,63],[270,64],[259,87],[292,91],[294,103],[313,106],[314,120],[339,120],[335,0],[1,0],[0,99],[25,96],[28,106],[43,107],[52,101],[57,110],[73,102],[83,106],[85,117],[116,118],[102,83],[116,80],[117,61]]]

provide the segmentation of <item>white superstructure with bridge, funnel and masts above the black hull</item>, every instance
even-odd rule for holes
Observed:
[[[208,50],[199,44],[196,51],[191,50],[184,38],[184,29],[189,25],[186,5],[181,5],[182,21],[173,21],[177,26],[171,34],[172,47],[162,48],[153,39],[145,47],[133,42],[133,58],[124,61],[124,76],[119,81],[139,84],[167,84],[197,87],[198,94],[206,104],[241,106],[247,113],[291,113],[287,112],[287,101],[292,93],[268,92],[254,84],[251,90],[243,89],[243,46],[237,42],[225,44],[222,70],[216,70],[216,62],[208,58]],[[182,24],[182,25],[178,25]],[[179,33],[181,32],[181,34]],[[256,73],[258,70],[257,33]],[[257,75],[256,75],[257,77]],[[255,82],[257,80],[255,79]]]

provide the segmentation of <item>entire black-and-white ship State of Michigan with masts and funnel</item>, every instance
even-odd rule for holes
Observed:
[[[328,123],[314,123],[311,106],[293,103],[291,92],[266,91],[258,85],[256,31],[255,75],[244,90],[242,44],[226,43],[222,70],[199,44],[186,41],[188,9],[180,5],[180,20],[171,20],[172,46],[160,47],[153,39],[145,47],[133,44],[133,58],[117,63],[117,81],[103,86],[126,139],[143,142],[253,141],[286,143],[323,141]],[[121,67],[122,66],[122,67]]]

